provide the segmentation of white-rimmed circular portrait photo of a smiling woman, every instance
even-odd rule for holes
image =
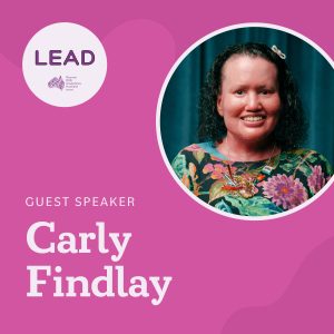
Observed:
[[[197,41],[168,73],[160,150],[205,207],[282,217],[333,183],[333,60],[306,37],[273,24],[228,27]]]

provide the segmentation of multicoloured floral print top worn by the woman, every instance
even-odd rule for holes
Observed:
[[[314,150],[293,149],[268,160],[242,163],[228,161],[210,143],[186,147],[171,166],[197,197],[243,216],[292,209],[315,195],[333,175],[330,163]]]

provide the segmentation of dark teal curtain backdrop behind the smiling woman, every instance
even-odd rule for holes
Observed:
[[[170,160],[185,146],[198,143],[198,97],[215,57],[239,42],[276,45],[299,88],[310,124],[305,148],[322,153],[334,165],[334,71],[328,61],[302,39],[269,28],[239,28],[219,33],[193,50],[167,86],[160,114],[161,138]]]

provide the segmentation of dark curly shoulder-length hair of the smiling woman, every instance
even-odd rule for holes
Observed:
[[[278,122],[272,134],[273,140],[282,149],[299,147],[306,138],[307,125],[293,76],[285,60],[268,46],[250,42],[228,47],[216,57],[199,99],[199,140],[222,143],[227,132],[224,119],[217,110],[217,98],[222,88],[222,69],[235,55],[261,57],[276,66],[282,107]]]

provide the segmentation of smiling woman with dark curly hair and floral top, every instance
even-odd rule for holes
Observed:
[[[199,139],[173,168],[212,206],[245,216],[292,209],[331,178],[328,161],[301,148],[306,134],[293,77],[277,48],[246,43],[218,55],[200,98]]]

